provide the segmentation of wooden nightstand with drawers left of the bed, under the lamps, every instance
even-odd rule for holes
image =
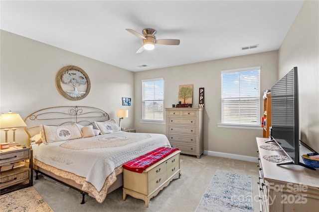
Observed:
[[[10,146],[7,149],[1,149],[0,166],[0,195],[33,185],[30,148]]]

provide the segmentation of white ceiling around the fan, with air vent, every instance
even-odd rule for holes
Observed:
[[[2,30],[130,71],[278,50],[303,0],[0,1]],[[142,34],[180,39],[135,52]],[[258,48],[241,47],[258,44]],[[147,67],[140,67],[147,65]]]

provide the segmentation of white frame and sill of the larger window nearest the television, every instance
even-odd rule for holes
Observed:
[[[233,69],[233,70],[223,70],[221,71],[221,123],[217,124],[218,127],[224,127],[224,128],[241,128],[241,129],[255,129],[255,130],[262,130],[262,128],[260,127],[260,70],[261,67],[248,67],[248,68],[242,68],[242,69]],[[223,74],[225,73],[238,73],[238,72],[244,72],[244,71],[258,71],[258,84],[256,86],[256,89],[258,89],[258,92],[256,92],[255,95],[252,96],[242,96],[240,95],[240,90],[239,90],[239,94],[238,95],[231,95],[231,96],[223,96]],[[242,93],[243,94],[243,93]],[[236,98],[241,98],[241,99],[251,99],[251,100],[256,100],[256,116],[255,116],[255,123],[245,123],[245,122],[241,122],[238,116],[238,122],[227,122],[224,121],[224,117],[227,114],[225,112],[225,108],[224,108],[224,102],[229,101],[231,99],[236,99]],[[239,100],[241,101],[241,100]],[[239,107],[240,108],[240,107]],[[240,109],[239,109],[240,111]],[[240,112],[239,112],[240,113]],[[236,116],[235,116],[236,117]]]

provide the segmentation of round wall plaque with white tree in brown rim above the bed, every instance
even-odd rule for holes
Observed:
[[[91,88],[89,76],[81,68],[65,66],[55,77],[55,84],[59,93],[69,100],[85,98]]]

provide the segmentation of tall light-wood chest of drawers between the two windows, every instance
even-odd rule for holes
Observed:
[[[165,108],[166,137],[181,153],[200,155],[203,147],[203,108]]]

